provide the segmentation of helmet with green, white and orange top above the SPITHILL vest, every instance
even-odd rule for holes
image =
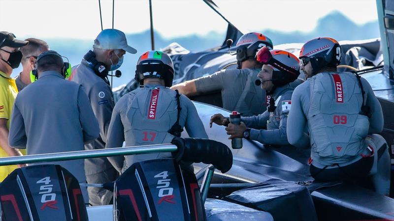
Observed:
[[[174,66],[171,58],[161,51],[148,51],[138,58],[135,80],[144,85],[145,78],[164,79],[166,87],[172,86]]]

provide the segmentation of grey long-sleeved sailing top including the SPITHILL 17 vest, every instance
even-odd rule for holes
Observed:
[[[181,127],[185,127],[191,138],[208,138],[193,103],[181,95],[180,106]],[[162,85],[147,84],[129,92],[115,105],[105,148],[121,147],[123,141],[126,141],[126,146],[170,143],[174,136],[168,130],[177,119],[177,107],[175,91]],[[171,154],[108,159],[118,171],[124,171],[135,162],[165,157],[171,157]]]

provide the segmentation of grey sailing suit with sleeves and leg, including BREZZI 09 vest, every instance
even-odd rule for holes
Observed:
[[[308,78],[294,90],[287,136],[291,144],[304,148],[309,147],[305,139],[310,139],[312,165],[317,168],[351,165],[372,154],[368,147],[374,149],[370,174],[379,180],[374,182],[377,192],[384,193],[390,188],[390,156],[386,149],[378,160],[376,153],[386,142],[379,135],[367,137],[382,131],[382,108],[369,83],[363,78],[361,83],[370,118],[360,114],[361,87],[354,74],[326,72]],[[303,133],[306,125],[309,137]]]

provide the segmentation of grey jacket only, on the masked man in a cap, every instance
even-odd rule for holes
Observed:
[[[85,59],[83,59],[79,65],[73,67],[72,75],[68,80],[82,85],[99,122],[99,138],[85,145],[85,149],[104,149],[112,110],[115,106],[110,85],[96,75]],[[86,175],[96,174],[111,167],[111,164],[106,158],[91,158],[85,160]]]

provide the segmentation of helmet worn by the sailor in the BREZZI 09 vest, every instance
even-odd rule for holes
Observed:
[[[311,62],[316,74],[324,67],[336,67],[341,62],[341,46],[333,38],[319,37],[306,42],[299,52],[299,59],[306,65]]]

